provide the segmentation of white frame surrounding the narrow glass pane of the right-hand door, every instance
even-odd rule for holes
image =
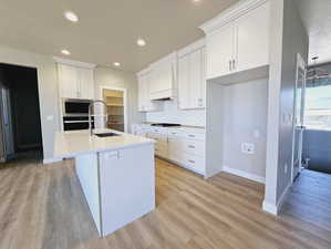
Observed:
[[[301,100],[301,114],[302,115],[302,126],[304,122],[304,103],[306,103],[306,77],[307,77],[307,63],[303,60],[300,53],[297,54],[297,69],[296,69],[296,84],[294,84],[294,101],[293,101],[293,118],[292,118],[292,158],[291,158],[291,183],[296,180],[297,175],[294,176],[294,148],[296,148],[296,129],[297,129],[297,87],[298,87],[298,80],[299,80],[299,70],[303,69],[304,71],[304,80],[303,80],[303,87],[302,87],[302,100]],[[299,142],[299,153],[302,155],[302,143],[303,143],[303,127],[300,134],[300,142]],[[301,160],[299,160],[299,174],[301,172]]]

